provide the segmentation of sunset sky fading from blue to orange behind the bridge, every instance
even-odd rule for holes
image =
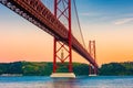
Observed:
[[[90,40],[96,42],[98,64],[133,62],[133,0],[75,2],[86,47]],[[72,57],[88,63],[74,52]],[[0,4],[0,63],[52,58],[53,37]]]

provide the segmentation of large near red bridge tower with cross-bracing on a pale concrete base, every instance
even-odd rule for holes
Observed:
[[[53,40],[53,74],[51,77],[75,77],[72,70],[72,33],[71,33],[71,0],[54,0],[54,15],[58,20],[65,20],[64,26],[68,29],[68,37],[60,40],[54,37]],[[62,21],[61,21],[62,22]],[[63,41],[68,42],[68,46]],[[62,50],[66,53],[62,53]],[[59,54],[60,53],[60,54]],[[59,68],[57,62],[62,64],[68,61],[68,73],[57,73]]]

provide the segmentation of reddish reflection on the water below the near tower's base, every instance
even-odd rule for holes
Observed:
[[[78,88],[75,86],[76,79],[74,78],[53,78],[53,88]]]

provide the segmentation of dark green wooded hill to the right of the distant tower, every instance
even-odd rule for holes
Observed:
[[[104,64],[100,68],[100,75],[106,76],[133,75],[133,62]]]

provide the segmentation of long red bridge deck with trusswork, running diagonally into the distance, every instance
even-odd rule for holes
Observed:
[[[66,28],[51,13],[40,0],[0,0],[2,4],[39,26],[50,35],[68,45]],[[88,51],[72,35],[72,48],[90,62],[95,68],[98,64]]]

